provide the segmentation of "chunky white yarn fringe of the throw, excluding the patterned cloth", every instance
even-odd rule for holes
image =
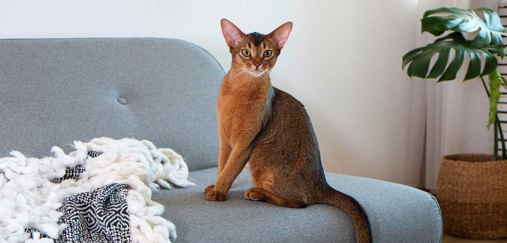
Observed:
[[[57,209],[63,199],[110,183],[129,186],[126,199],[132,242],[171,242],[170,238],[176,238],[174,224],[160,217],[164,207],[151,198],[160,186],[195,186],[188,180],[188,167],[180,155],[171,149],[157,149],[151,141],[131,138],[74,141],[74,148],[66,155],[53,147],[54,158],[26,158],[13,151],[12,157],[0,159],[0,243],[53,242],[37,233],[30,238],[24,229],[58,238],[65,228],[57,224],[62,216]],[[102,154],[86,159],[88,151]],[[62,177],[67,167],[83,164],[86,169],[79,180],[51,182]]]

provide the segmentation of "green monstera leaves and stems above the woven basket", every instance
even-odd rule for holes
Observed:
[[[481,13],[484,20],[477,13]],[[402,68],[405,69],[408,65],[407,74],[410,77],[438,78],[438,82],[442,82],[456,79],[456,74],[465,64],[465,57],[468,57],[468,67],[463,81],[480,77],[484,83],[486,94],[489,96],[487,127],[489,129],[492,124],[495,124],[494,134],[498,140],[496,135],[498,130],[501,131],[501,124],[496,113],[496,105],[500,98],[500,85],[507,86],[507,80],[500,75],[498,70],[497,56],[500,58],[505,56],[502,36],[507,36],[498,14],[486,8],[479,8],[475,11],[460,8],[439,8],[426,11],[421,23],[422,32],[429,32],[434,36],[446,35],[433,43],[407,53],[403,57]],[[474,38],[467,39],[463,32],[477,32],[477,34]],[[429,70],[433,56],[438,56],[438,58]],[[489,90],[484,76],[489,78]],[[502,144],[501,159],[505,160],[507,159],[507,151],[502,133],[500,133],[500,140]],[[495,144],[498,143],[495,142]],[[497,160],[497,145],[494,147],[493,160]]]

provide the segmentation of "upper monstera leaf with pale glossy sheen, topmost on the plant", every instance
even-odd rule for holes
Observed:
[[[484,21],[476,14],[481,12]],[[440,15],[437,15],[440,14]],[[422,32],[427,31],[434,36],[441,35],[446,30],[473,33],[479,31],[470,42],[470,46],[483,47],[486,45],[502,45],[502,36],[505,29],[498,14],[490,9],[479,8],[475,12],[470,9],[439,8],[424,13],[422,19]]]

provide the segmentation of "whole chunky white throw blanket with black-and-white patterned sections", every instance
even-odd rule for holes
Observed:
[[[26,158],[13,151],[12,157],[0,159],[0,243],[81,242],[86,237],[97,239],[93,242],[148,243],[176,238],[174,224],[160,217],[164,207],[151,198],[160,186],[195,186],[181,156],[157,149],[148,140],[130,138],[75,141],[74,148],[66,155],[53,147],[54,158]],[[83,168],[75,179],[68,175],[73,168]],[[121,222],[124,219],[127,222]],[[104,227],[125,233],[107,238]],[[88,232],[82,233],[84,229]]]

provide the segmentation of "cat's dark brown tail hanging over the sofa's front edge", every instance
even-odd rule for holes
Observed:
[[[371,243],[372,236],[370,233],[368,217],[359,203],[352,197],[333,188],[328,190],[327,195],[328,196],[324,199],[323,203],[331,204],[343,209],[343,211],[352,218],[357,243]]]

